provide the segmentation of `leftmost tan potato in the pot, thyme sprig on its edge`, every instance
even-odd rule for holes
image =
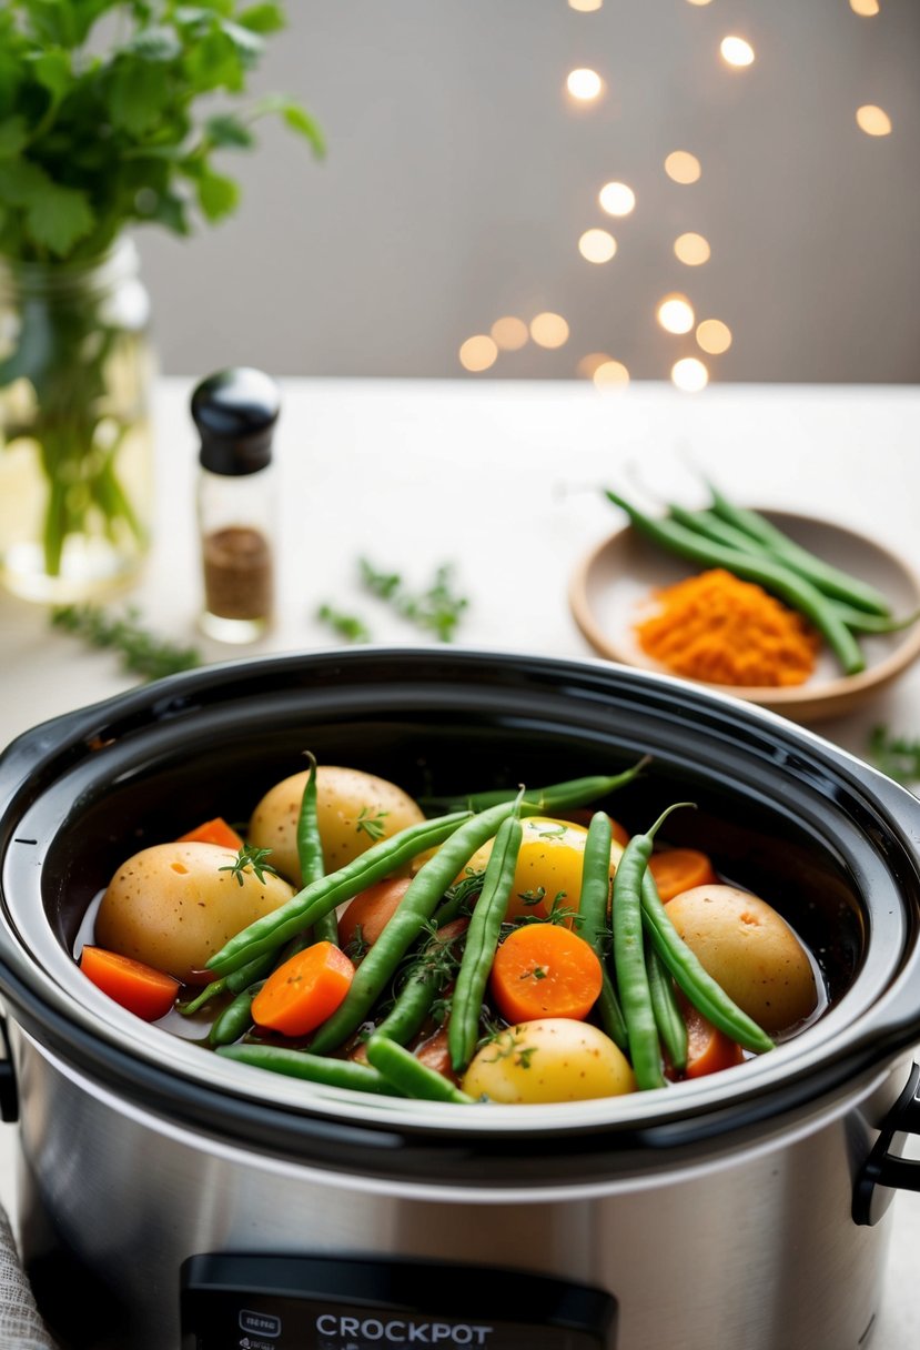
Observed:
[[[96,942],[179,980],[202,983],[208,959],[254,919],[293,895],[279,876],[251,867],[235,875],[236,853],[219,844],[155,844],[123,863],[96,915]],[[241,883],[241,884],[240,884]]]

